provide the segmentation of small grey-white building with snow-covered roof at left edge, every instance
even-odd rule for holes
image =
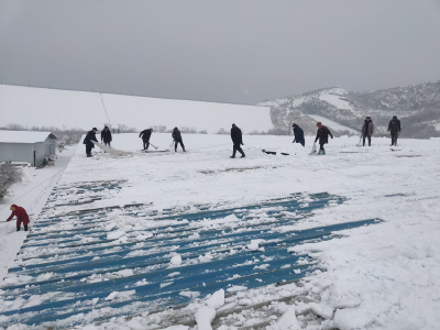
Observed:
[[[0,162],[28,162],[37,167],[55,155],[55,140],[51,132],[0,131]]]

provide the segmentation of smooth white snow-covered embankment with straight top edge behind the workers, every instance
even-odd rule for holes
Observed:
[[[265,107],[167,100],[120,95],[102,95],[110,123],[138,130],[151,125],[196,128],[216,133],[237,123],[243,131],[273,128]],[[97,92],[55,90],[0,85],[1,125],[101,129],[109,119]]]

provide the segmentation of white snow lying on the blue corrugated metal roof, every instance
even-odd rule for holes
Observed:
[[[307,196],[327,191],[340,196],[343,201],[330,202],[297,219],[284,211],[276,219],[294,217],[296,221],[288,226],[273,224],[270,232],[287,233],[365,219],[383,222],[338,231],[332,240],[280,246],[293,254],[307,254],[321,270],[310,272],[298,283],[255,288],[226,286],[202,299],[186,292],[193,300],[179,309],[145,311],[130,319],[118,316],[95,326],[87,324],[97,315],[108,311],[96,309],[80,316],[82,324],[77,329],[438,329],[439,139],[399,140],[399,145],[392,150],[389,139],[373,138],[373,146],[356,147],[358,138],[342,136],[330,140],[326,156],[309,156],[312,138],[306,138],[304,148],[292,144],[290,136],[244,135],[246,157],[235,160],[229,158],[232,145],[227,135],[187,134],[183,139],[187,153],[180,150],[178,153],[142,153],[142,142],[136,134],[114,135],[116,148],[133,153],[124,157],[96,153],[87,158],[84,145],[78,145],[56,183],[58,189],[90,182],[119,180],[123,185],[119,190],[105,190],[103,198],[87,206],[55,206],[55,201],[50,201],[46,205],[50,208],[38,221],[47,221],[47,217],[61,216],[67,210],[127,205],[150,205],[150,211],[191,209],[200,205],[240,209],[296,193],[300,194],[301,202],[307,204]],[[169,148],[170,136],[153,134],[151,142]],[[267,155],[261,152],[263,148],[278,153]],[[75,201],[72,198],[74,196],[65,195],[66,205]],[[22,206],[30,208],[32,200],[25,201],[30,205],[23,202]],[[226,230],[231,221],[238,221],[234,219],[220,218],[215,222],[207,217],[202,221],[205,227]],[[154,216],[146,220],[142,226],[154,222]],[[261,216],[261,221],[266,220]],[[116,217],[111,222],[111,228],[99,227],[103,232],[111,230],[108,239],[124,238],[129,231],[125,227],[135,227],[124,218]],[[47,230],[55,230],[56,226],[67,229],[68,223],[53,224]],[[37,232],[44,234],[40,228]],[[12,230],[8,234],[15,235]],[[127,240],[130,238],[125,235]],[[147,242],[148,238],[143,240]],[[258,249],[255,241],[241,243],[246,246],[243,250]],[[55,251],[57,245],[51,249]],[[32,253],[33,250],[26,251]],[[170,265],[185,265],[186,261],[176,255],[172,255]],[[3,260],[9,265],[9,261]],[[205,255],[199,262],[208,267],[211,260]],[[20,263],[23,261],[18,261],[16,265]],[[258,263],[255,272],[263,272],[268,267],[265,264],[265,261]],[[12,275],[8,278],[7,283],[24,280]],[[172,284],[161,283],[161,289],[173,287]],[[9,318],[1,314],[11,310],[11,306],[34,306],[42,304],[44,297],[34,297],[32,301],[26,300],[31,299],[29,296],[16,299],[11,301],[1,296],[0,327]],[[40,302],[34,302],[36,299]],[[20,327],[10,328],[25,329]]]

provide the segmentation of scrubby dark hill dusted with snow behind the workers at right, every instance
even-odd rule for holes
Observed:
[[[309,114],[317,114],[359,132],[365,117],[371,116],[376,133],[386,133],[389,120],[397,116],[402,120],[402,136],[440,136],[440,80],[366,92],[332,87],[258,106],[271,107],[272,121],[278,129],[298,122],[306,133],[314,133],[316,120]],[[331,129],[341,130],[336,125]]]

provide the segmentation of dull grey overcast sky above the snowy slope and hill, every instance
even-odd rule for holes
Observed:
[[[4,1],[2,84],[256,103],[440,79],[439,0]]]

